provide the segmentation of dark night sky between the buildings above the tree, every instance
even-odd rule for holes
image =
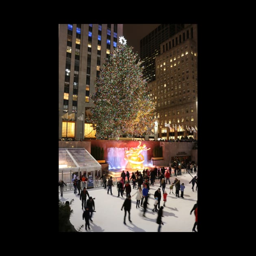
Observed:
[[[133,46],[133,52],[140,52],[140,40],[161,24],[124,24],[123,36],[128,46]],[[119,40],[118,40],[119,41]]]

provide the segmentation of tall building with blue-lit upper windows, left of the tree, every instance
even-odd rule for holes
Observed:
[[[123,24],[59,24],[59,138],[95,138],[86,123],[94,82]]]

